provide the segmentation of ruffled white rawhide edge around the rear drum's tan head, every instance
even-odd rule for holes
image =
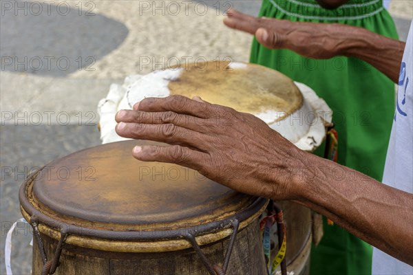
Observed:
[[[244,63],[240,64],[244,65]],[[237,67],[236,64],[233,66]],[[237,68],[241,69],[241,67]],[[169,96],[169,81],[178,78],[181,72],[181,69],[167,69],[145,76],[128,76],[123,85],[112,84],[107,97],[98,103],[100,139],[103,144],[128,140],[115,132],[116,121],[114,117],[117,111],[131,109],[134,103],[147,97]],[[326,102],[315,94],[313,89],[302,83],[295,83],[295,85],[304,97],[304,102],[299,110],[279,121],[275,120],[284,115],[282,112],[267,111],[254,115],[267,122],[272,129],[278,131],[301,150],[314,151],[326,136],[324,122],[332,121],[332,111]]]

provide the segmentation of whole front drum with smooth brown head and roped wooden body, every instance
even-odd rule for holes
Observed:
[[[21,212],[39,230],[47,261],[65,236],[55,274],[211,274],[187,236],[211,265],[222,266],[235,221],[226,274],[265,274],[258,217],[267,200],[189,168],[131,156],[136,144],[149,143],[79,151],[22,185]],[[42,250],[34,239],[32,271],[41,274]]]

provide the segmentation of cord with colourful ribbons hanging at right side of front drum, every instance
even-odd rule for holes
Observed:
[[[264,248],[264,255],[267,263],[267,274],[277,274],[276,270],[279,266],[281,268],[281,274],[287,275],[286,266],[286,228],[283,220],[283,212],[273,200],[268,203],[266,208],[266,216],[260,220],[260,230],[263,232],[262,246]],[[278,236],[278,252],[271,256],[271,228],[277,223],[277,236]],[[273,258],[273,261],[271,259]]]

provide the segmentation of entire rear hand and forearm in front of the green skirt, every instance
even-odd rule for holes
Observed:
[[[341,1],[336,2],[339,4]],[[256,18],[236,10],[229,10],[227,13],[225,25],[255,34],[257,41],[269,49],[288,49],[317,59],[352,56],[370,63],[395,83],[399,80],[405,47],[405,43],[401,41],[338,23]]]

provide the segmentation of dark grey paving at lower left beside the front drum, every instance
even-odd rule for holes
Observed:
[[[19,187],[24,171],[44,166],[53,159],[100,144],[96,126],[1,126],[1,234],[0,274],[6,274],[4,245],[11,224],[21,217]],[[13,274],[30,274],[32,250],[30,230],[20,225],[13,235]]]

